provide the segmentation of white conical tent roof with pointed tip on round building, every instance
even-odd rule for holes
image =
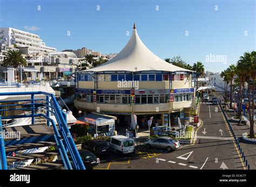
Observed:
[[[135,24],[123,50],[106,63],[84,71],[191,71],[174,66],[153,54],[140,40]]]

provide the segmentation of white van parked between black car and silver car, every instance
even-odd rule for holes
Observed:
[[[106,140],[110,150],[117,154],[127,154],[134,152],[134,140],[123,135],[111,136]]]

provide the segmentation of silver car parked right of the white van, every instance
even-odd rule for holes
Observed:
[[[167,136],[162,136],[157,139],[149,140],[144,142],[146,148],[158,148],[158,149],[167,149],[169,152],[177,149],[180,144],[178,140],[174,140]]]

